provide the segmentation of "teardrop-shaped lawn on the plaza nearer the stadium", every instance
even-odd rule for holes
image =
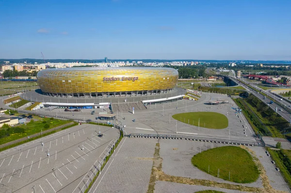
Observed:
[[[214,112],[192,112],[180,113],[172,116],[174,119],[209,129],[224,129],[228,126],[228,119],[225,115]],[[199,121],[200,119],[200,121]],[[200,123],[198,125],[198,123]]]

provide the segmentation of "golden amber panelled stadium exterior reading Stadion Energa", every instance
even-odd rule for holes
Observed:
[[[37,74],[43,94],[69,97],[128,97],[167,93],[174,89],[178,71],[173,68],[61,68]]]

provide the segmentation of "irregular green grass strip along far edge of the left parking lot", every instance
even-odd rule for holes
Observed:
[[[34,118],[33,118],[34,119]],[[59,119],[52,119],[50,120],[49,118],[42,118],[41,120],[38,121],[31,121],[27,123],[26,125],[21,124],[17,125],[16,127],[20,127],[24,129],[24,133],[17,133],[17,134],[11,134],[10,136],[0,138],[0,145],[8,143],[10,141],[14,141],[16,139],[30,136],[32,134],[40,133],[41,129],[43,131],[46,131],[48,129],[63,125],[65,123],[72,122],[71,120],[59,120]],[[45,128],[45,125],[49,125],[49,128]]]

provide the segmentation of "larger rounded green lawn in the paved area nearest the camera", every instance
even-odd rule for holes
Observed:
[[[235,146],[202,151],[194,155],[191,162],[198,169],[215,177],[219,169],[219,178],[228,181],[251,183],[259,178],[259,170],[252,156],[246,150]]]

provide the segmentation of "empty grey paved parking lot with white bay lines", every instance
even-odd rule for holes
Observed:
[[[82,124],[2,151],[0,192],[73,192],[118,137],[114,128]]]

